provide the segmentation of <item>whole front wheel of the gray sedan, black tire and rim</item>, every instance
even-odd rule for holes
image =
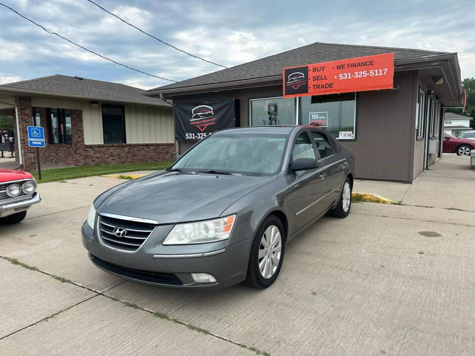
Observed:
[[[279,235],[277,235],[277,230]],[[273,233],[275,234],[274,236]],[[271,241],[271,248],[268,246],[266,249],[264,244],[273,237],[274,241]],[[275,243],[275,246],[272,246],[272,243]],[[269,215],[257,229],[252,241],[245,283],[248,286],[259,289],[267,288],[274,283],[281,271],[282,262],[284,261],[284,250],[284,225],[278,217]],[[276,259],[278,259],[277,266]],[[266,267],[268,268],[267,270]]]

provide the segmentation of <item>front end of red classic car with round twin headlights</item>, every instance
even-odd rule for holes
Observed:
[[[36,180],[28,172],[0,169],[0,223],[19,223],[41,201]]]

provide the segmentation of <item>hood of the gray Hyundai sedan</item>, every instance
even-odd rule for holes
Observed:
[[[123,184],[105,199],[99,197],[96,209],[160,224],[217,218],[235,201],[276,178],[162,171]]]

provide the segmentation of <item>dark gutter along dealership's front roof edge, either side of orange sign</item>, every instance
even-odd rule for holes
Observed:
[[[425,63],[425,62],[437,62],[441,60],[448,61],[449,59],[457,58],[457,53],[443,53],[443,54],[433,54],[428,56],[419,56],[414,58],[405,58],[405,59],[397,59],[394,61],[394,69],[395,71],[403,71],[403,70],[411,70],[412,68],[405,68],[406,65],[416,64],[416,63]],[[428,66],[424,66],[424,68],[429,68]],[[423,66],[420,66],[423,68]],[[266,87],[272,85],[282,85],[282,75],[274,75],[269,77],[261,77],[261,78],[251,78],[251,79],[243,79],[243,80],[236,80],[236,81],[229,81],[229,82],[220,82],[220,83],[212,83],[212,84],[204,84],[204,85],[197,85],[197,86],[190,86],[190,87],[181,87],[181,88],[164,88],[164,89],[150,89],[143,93],[146,96],[158,96],[161,95],[162,97],[172,97],[174,95],[182,95],[182,94],[195,94],[195,93],[203,93],[203,92],[210,92],[210,91],[222,91],[222,90],[232,90],[232,89],[247,89],[247,88],[257,88],[257,87]]]

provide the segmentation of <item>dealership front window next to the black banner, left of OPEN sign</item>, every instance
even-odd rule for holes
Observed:
[[[249,126],[295,125],[295,98],[265,98],[249,100]]]

